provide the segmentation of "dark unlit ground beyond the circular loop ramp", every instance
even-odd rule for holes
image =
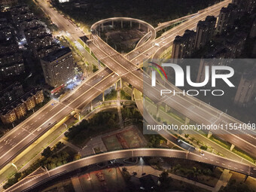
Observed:
[[[57,0],[54,7],[58,7],[64,14],[80,22],[91,25],[98,20],[109,17],[133,17],[145,20],[157,26],[157,23],[173,20],[187,14],[195,13],[218,0],[88,0],[83,8],[75,8],[76,1],[59,4]]]

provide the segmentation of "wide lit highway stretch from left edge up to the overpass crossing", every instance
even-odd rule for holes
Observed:
[[[41,136],[54,122],[62,120],[75,109],[82,110],[102,91],[107,90],[118,80],[118,76],[109,69],[101,69],[84,81],[72,94],[61,102],[50,101],[23,123],[16,126],[0,139],[0,168],[20,154],[31,142]],[[104,83],[101,83],[104,81]]]

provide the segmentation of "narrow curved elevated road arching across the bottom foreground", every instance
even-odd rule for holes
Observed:
[[[53,178],[59,177],[66,173],[72,172],[76,169],[80,169],[84,166],[90,166],[96,163],[101,163],[108,160],[125,159],[129,157],[173,157],[182,158],[187,160],[195,160],[198,162],[209,163],[215,166],[224,167],[235,172],[241,172],[245,175],[256,176],[256,170],[253,167],[234,162],[233,160],[228,160],[217,155],[212,155],[205,152],[201,155],[199,152],[190,153],[189,151],[177,151],[172,149],[162,149],[162,148],[139,148],[139,149],[129,149],[122,151],[111,151],[104,154],[96,154],[90,157],[84,157],[81,160],[76,160],[72,163],[68,163],[63,166],[59,166],[56,169],[52,169],[48,172],[44,172],[41,175],[36,175],[35,177],[25,178],[9,187],[6,191],[29,191],[33,188],[50,181]]]

